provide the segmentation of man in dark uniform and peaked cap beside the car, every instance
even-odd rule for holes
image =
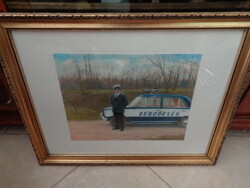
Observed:
[[[112,112],[114,114],[114,127],[115,129],[124,130],[124,109],[128,105],[127,97],[121,93],[121,86],[113,86],[114,94],[111,97]]]

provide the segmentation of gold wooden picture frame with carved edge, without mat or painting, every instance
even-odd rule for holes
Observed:
[[[103,22],[102,22],[103,21]],[[123,25],[120,24],[120,22]],[[70,24],[69,24],[70,23]],[[139,24],[138,24],[139,23]],[[126,28],[124,28],[126,25]],[[37,118],[32,108],[32,102],[27,96],[27,86],[22,80],[22,73],[18,67],[10,30],[129,30],[129,29],[242,29],[246,30],[243,50],[238,59],[239,65],[234,70],[230,90],[224,101],[220,117],[209,150],[203,155],[189,155],[187,157],[174,155],[115,155],[69,156],[50,155],[37,125]],[[215,164],[222,143],[225,138],[227,124],[239,101],[239,94],[245,74],[249,71],[250,60],[250,13],[168,13],[168,14],[0,14],[0,58],[4,66],[14,99],[18,103],[22,118],[29,132],[36,156],[40,164],[87,164],[87,165],[212,165]],[[10,63],[12,62],[12,63]]]

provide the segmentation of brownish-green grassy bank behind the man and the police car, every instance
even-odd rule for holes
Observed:
[[[164,89],[159,89],[159,93],[164,94]],[[143,90],[123,90],[128,101],[143,94]],[[62,96],[68,121],[84,121],[101,119],[100,113],[103,108],[110,106],[111,90],[80,90],[62,89]],[[192,98],[192,89],[169,90],[167,94],[179,94]]]

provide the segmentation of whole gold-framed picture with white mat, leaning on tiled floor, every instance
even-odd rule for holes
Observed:
[[[40,164],[216,162],[249,68],[248,13],[1,14]]]

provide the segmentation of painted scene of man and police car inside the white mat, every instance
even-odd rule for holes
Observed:
[[[53,58],[72,140],[185,138],[201,54]]]

